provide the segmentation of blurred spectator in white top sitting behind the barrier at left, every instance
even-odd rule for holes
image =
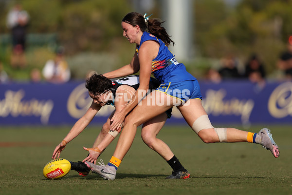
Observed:
[[[64,59],[63,47],[56,50],[55,59],[46,62],[42,74],[48,82],[64,83],[70,80],[71,72],[67,61]]]

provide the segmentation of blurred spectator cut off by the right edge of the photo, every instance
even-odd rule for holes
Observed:
[[[289,38],[287,50],[279,56],[277,67],[283,71],[287,79],[292,79],[292,37]]]

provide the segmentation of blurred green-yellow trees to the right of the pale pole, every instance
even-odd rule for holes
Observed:
[[[201,55],[221,58],[233,54],[245,61],[257,53],[267,72],[273,73],[277,57],[292,34],[291,6],[288,0],[242,0],[235,8],[219,0],[196,1],[196,40]],[[212,19],[201,22],[210,16]]]

